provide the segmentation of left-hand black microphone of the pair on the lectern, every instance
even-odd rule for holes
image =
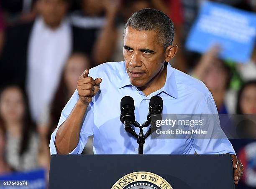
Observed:
[[[131,126],[135,121],[134,100],[132,97],[125,96],[120,102],[120,121],[126,126]]]

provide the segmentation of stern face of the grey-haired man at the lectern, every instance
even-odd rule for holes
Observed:
[[[154,30],[126,29],[123,56],[131,84],[136,87],[146,87],[163,67],[165,50],[157,39]]]

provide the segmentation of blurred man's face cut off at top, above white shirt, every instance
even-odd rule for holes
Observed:
[[[64,0],[39,0],[38,10],[44,22],[50,27],[58,27],[68,10],[68,3]]]

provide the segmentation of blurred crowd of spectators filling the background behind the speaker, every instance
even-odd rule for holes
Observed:
[[[216,1],[256,12],[255,0]],[[156,8],[173,20],[179,52],[170,63],[205,83],[220,114],[256,114],[256,48],[242,64],[220,59],[217,45],[202,55],[184,47],[202,2],[0,1],[0,175],[38,167],[47,174],[50,135],[79,75],[101,63],[123,60],[125,22],[142,8]],[[234,142],[238,151],[244,146]],[[90,139],[84,154],[92,153]],[[246,186],[243,181],[241,188]]]

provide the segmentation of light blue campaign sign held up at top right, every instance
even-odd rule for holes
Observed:
[[[189,50],[204,53],[221,46],[220,57],[246,63],[253,51],[256,13],[217,2],[204,2],[186,41]]]

